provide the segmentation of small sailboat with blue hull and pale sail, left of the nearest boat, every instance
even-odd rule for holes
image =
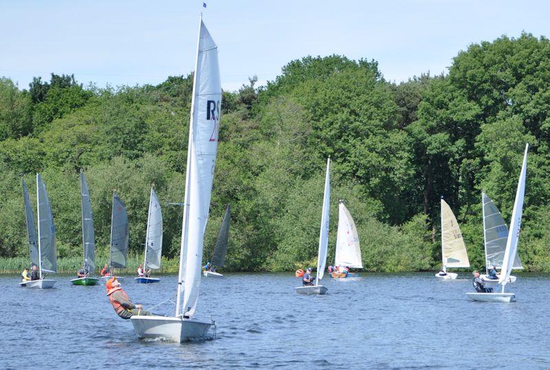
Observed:
[[[149,197],[149,213],[147,217],[147,231],[145,236],[145,257],[143,271],[160,268],[160,257],[162,255],[162,210],[157,194],[151,188]],[[150,276],[137,276],[137,283],[148,284],[158,283],[160,279]]]

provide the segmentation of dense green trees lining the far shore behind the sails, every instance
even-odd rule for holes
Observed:
[[[206,233],[210,255],[232,205],[230,270],[315,265],[325,163],[332,159],[333,260],[338,199],[355,219],[366,270],[437,268],[439,198],[461,223],[470,261],[483,268],[481,191],[509,219],[525,142],[531,144],[519,253],[550,271],[550,43],[502,36],[460,52],[445,76],[384,80],[375,61],[292,61],[257,88],[223,93],[219,155]],[[142,250],[148,194],[164,204],[164,255],[179,250],[192,75],[142,87],[83,87],[73,76],[0,79],[0,256],[24,257],[21,173],[40,171],[61,257],[78,257],[78,171],[91,189],[100,255],[111,195],[129,211],[131,250]],[[550,220],[549,220],[550,221]],[[208,257],[205,257],[208,258]],[[101,263],[101,261],[98,261]]]

